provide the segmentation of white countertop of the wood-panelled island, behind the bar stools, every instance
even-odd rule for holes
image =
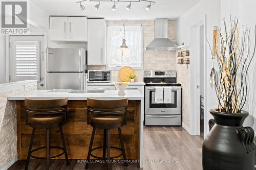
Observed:
[[[24,100],[25,98],[35,99],[49,99],[49,98],[68,98],[68,100],[87,100],[87,98],[100,99],[119,99],[128,98],[129,100],[143,100],[144,96],[139,90],[125,90],[125,95],[117,95],[118,90],[105,90],[103,93],[67,93],[54,92],[49,93],[50,90],[31,90],[24,93],[19,93],[9,96],[8,100]]]

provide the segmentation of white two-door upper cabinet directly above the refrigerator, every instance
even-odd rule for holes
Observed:
[[[87,17],[51,16],[50,40],[56,42],[87,42]]]

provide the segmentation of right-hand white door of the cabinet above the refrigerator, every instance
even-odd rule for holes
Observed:
[[[87,41],[87,17],[68,17],[69,41]]]

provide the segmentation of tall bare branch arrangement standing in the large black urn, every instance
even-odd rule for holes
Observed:
[[[221,29],[214,42],[218,62],[217,74],[220,78],[216,84],[218,109],[226,113],[239,113],[247,98],[248,68],[255,54],[256,26],[254,27],[253,49],[250,48],[250,29],[246,29],[239,41],[238,19],[231,21],[228,30],[224,19],[224,34]],[[251,52],[252,50],[252,52]],[[213,54],[213,53],[211,53]]]

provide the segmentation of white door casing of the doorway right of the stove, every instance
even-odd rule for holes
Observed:
[[[198,77],[200,69],[199,69],[199,61],[200,58],[196,57],[200,54],[200,39],[199,39],[199,32],[200,26],[204,25],[204,58],[206,58],[206,20],[207,15],[205,14],[201,20],[196,22],[194,25],[190,26],[190,127],[189,127],[189,134],[191,135],[199,135],[200,134],[200,88],[204,90],[204,99],[206,99],[206,90],[205,90],[205,80],[206,80],[206,60],[204,60],[204,87],[200,87],[197,89],[197,85],[200,85],[200,76]],[[193,33],[193,34],[191,34]],[[205,100],[204,100],[205,101]],[[204,108],[206,102],[204,102]],[[204,109],[204,137],[206,134],[206,127],[207,127],[207,114],[206,110]]]

